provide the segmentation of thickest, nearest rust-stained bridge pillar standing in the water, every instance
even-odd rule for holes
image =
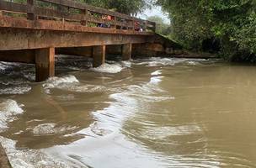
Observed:
[[[35,50],[35,80],[45,81],[55,75],[55,48]]]

